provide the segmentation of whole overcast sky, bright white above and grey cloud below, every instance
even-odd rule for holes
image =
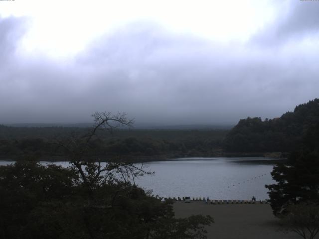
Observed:
[[[319,1],[0,1],[0,123],[275,118],[319,97]]]

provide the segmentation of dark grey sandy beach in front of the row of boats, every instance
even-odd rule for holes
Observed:
[[[207,227],[208,239],[301,239],[280,230],[280,222],[269,204],[206,204],[203,201],[175,202],[177,218],[210,215],[215,223]],[[316,239],[319,238],[317,235]]]

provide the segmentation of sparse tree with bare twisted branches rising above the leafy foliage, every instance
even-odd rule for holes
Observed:
[[[94,125],[84,135],[77,135],[75,132],[67,137],[56,138],[57,144],[64,148],[72,167],[78,171],[82,183],[88,190],[89,198],[92,196],[92,190],[96,184],[106,181],[123,180],[125,183],[133,181],[135,177],[144,174],[151,174],[144,170],[144,165],[135,165],[134,163],[117,161],[101,164],[99,157],[94,157],[94,145],[92,141],[98,138],[98,131],[107,130],[113,133],[119,127],[132,127],[134,119],[127,119],[126,113],[96,112],[92,115]],[[93,156],[92,156],[93,155]],[[118,174],[120,177],[115,177]]]

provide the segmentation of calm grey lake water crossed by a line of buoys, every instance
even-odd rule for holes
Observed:
[[[0,165],[12,163],[0,161]],[[48,164],[49,162],[41,162]],[[69,166],[68,162],[55,162]],[[146,175],[136,183],[160,197],[209,197],[214,200],[268,199],[265,184],[272,184],[269,158],[180,158],[148,162]]]

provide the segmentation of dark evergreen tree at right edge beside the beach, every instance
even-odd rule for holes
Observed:
[[[285,214],[291,204],[319,203],[319,122],[308,127],[300,150],[271,173],[277,184],[266,185],[275,215]]]

